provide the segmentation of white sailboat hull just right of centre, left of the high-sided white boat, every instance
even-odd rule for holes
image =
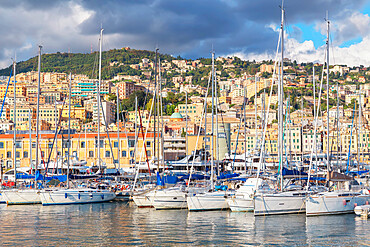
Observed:
[[[225,192],[211,192],[188,196],[188,209],[190,211],[229,209],[225,197]]]

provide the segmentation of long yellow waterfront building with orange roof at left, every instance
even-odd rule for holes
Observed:
[[[107,168],[114,168],[114,163],[117,163],[118,158],[118,139],[117,133],[109,133],[109,137],[112,144],[113,154],[110,149],[108,136],[106,133],[101,134],[101,148],[100,148],[100,158],[101,162],[107,165]],[[145,139],[145,145],[147,150],[148,159],[152,158],[154,154],[153,145],[153,133],[148,133]],[[52,149],[52,143],[54,139],[54,134],[41,134],[40,135],[40,161],[43,157],[45,162],[51,153],[51,159],[55,159],[56,152],[59,155],[67,154],[68,148],[68,135],[58,135],[58,143]],[[96,133],[77,133],[71,135],[71,155],[77,155],[79,160],[86,160],[87,164],[93,165],[97,164],[97,134]],[[36,157],[36,136],[32,134],[32,160]],[[138,135],[138,143],[136,149],[136,161],[145,161],[146,156],[143,151],[143,138],[142,135]],[[16,144],[16,157],[17,166],[19,167],[29,167],[30,166],[30,139],[28,134],[17,135]],[[156,149],[161,148],[160,145],[156,145]],[[119,157],[119,167],[129,167],[130,163],[133,162],[135,157],[135,134],[134,133],[121,133],[120,134],[120,157]],[[4,161],[5,169],[10,169],[13,166],[13,135],[12,134],[1,134],[0,135],[0,158]],[[141,155],[143,154],[143,155]],[[114,160],[113,160],[114,157]]]

